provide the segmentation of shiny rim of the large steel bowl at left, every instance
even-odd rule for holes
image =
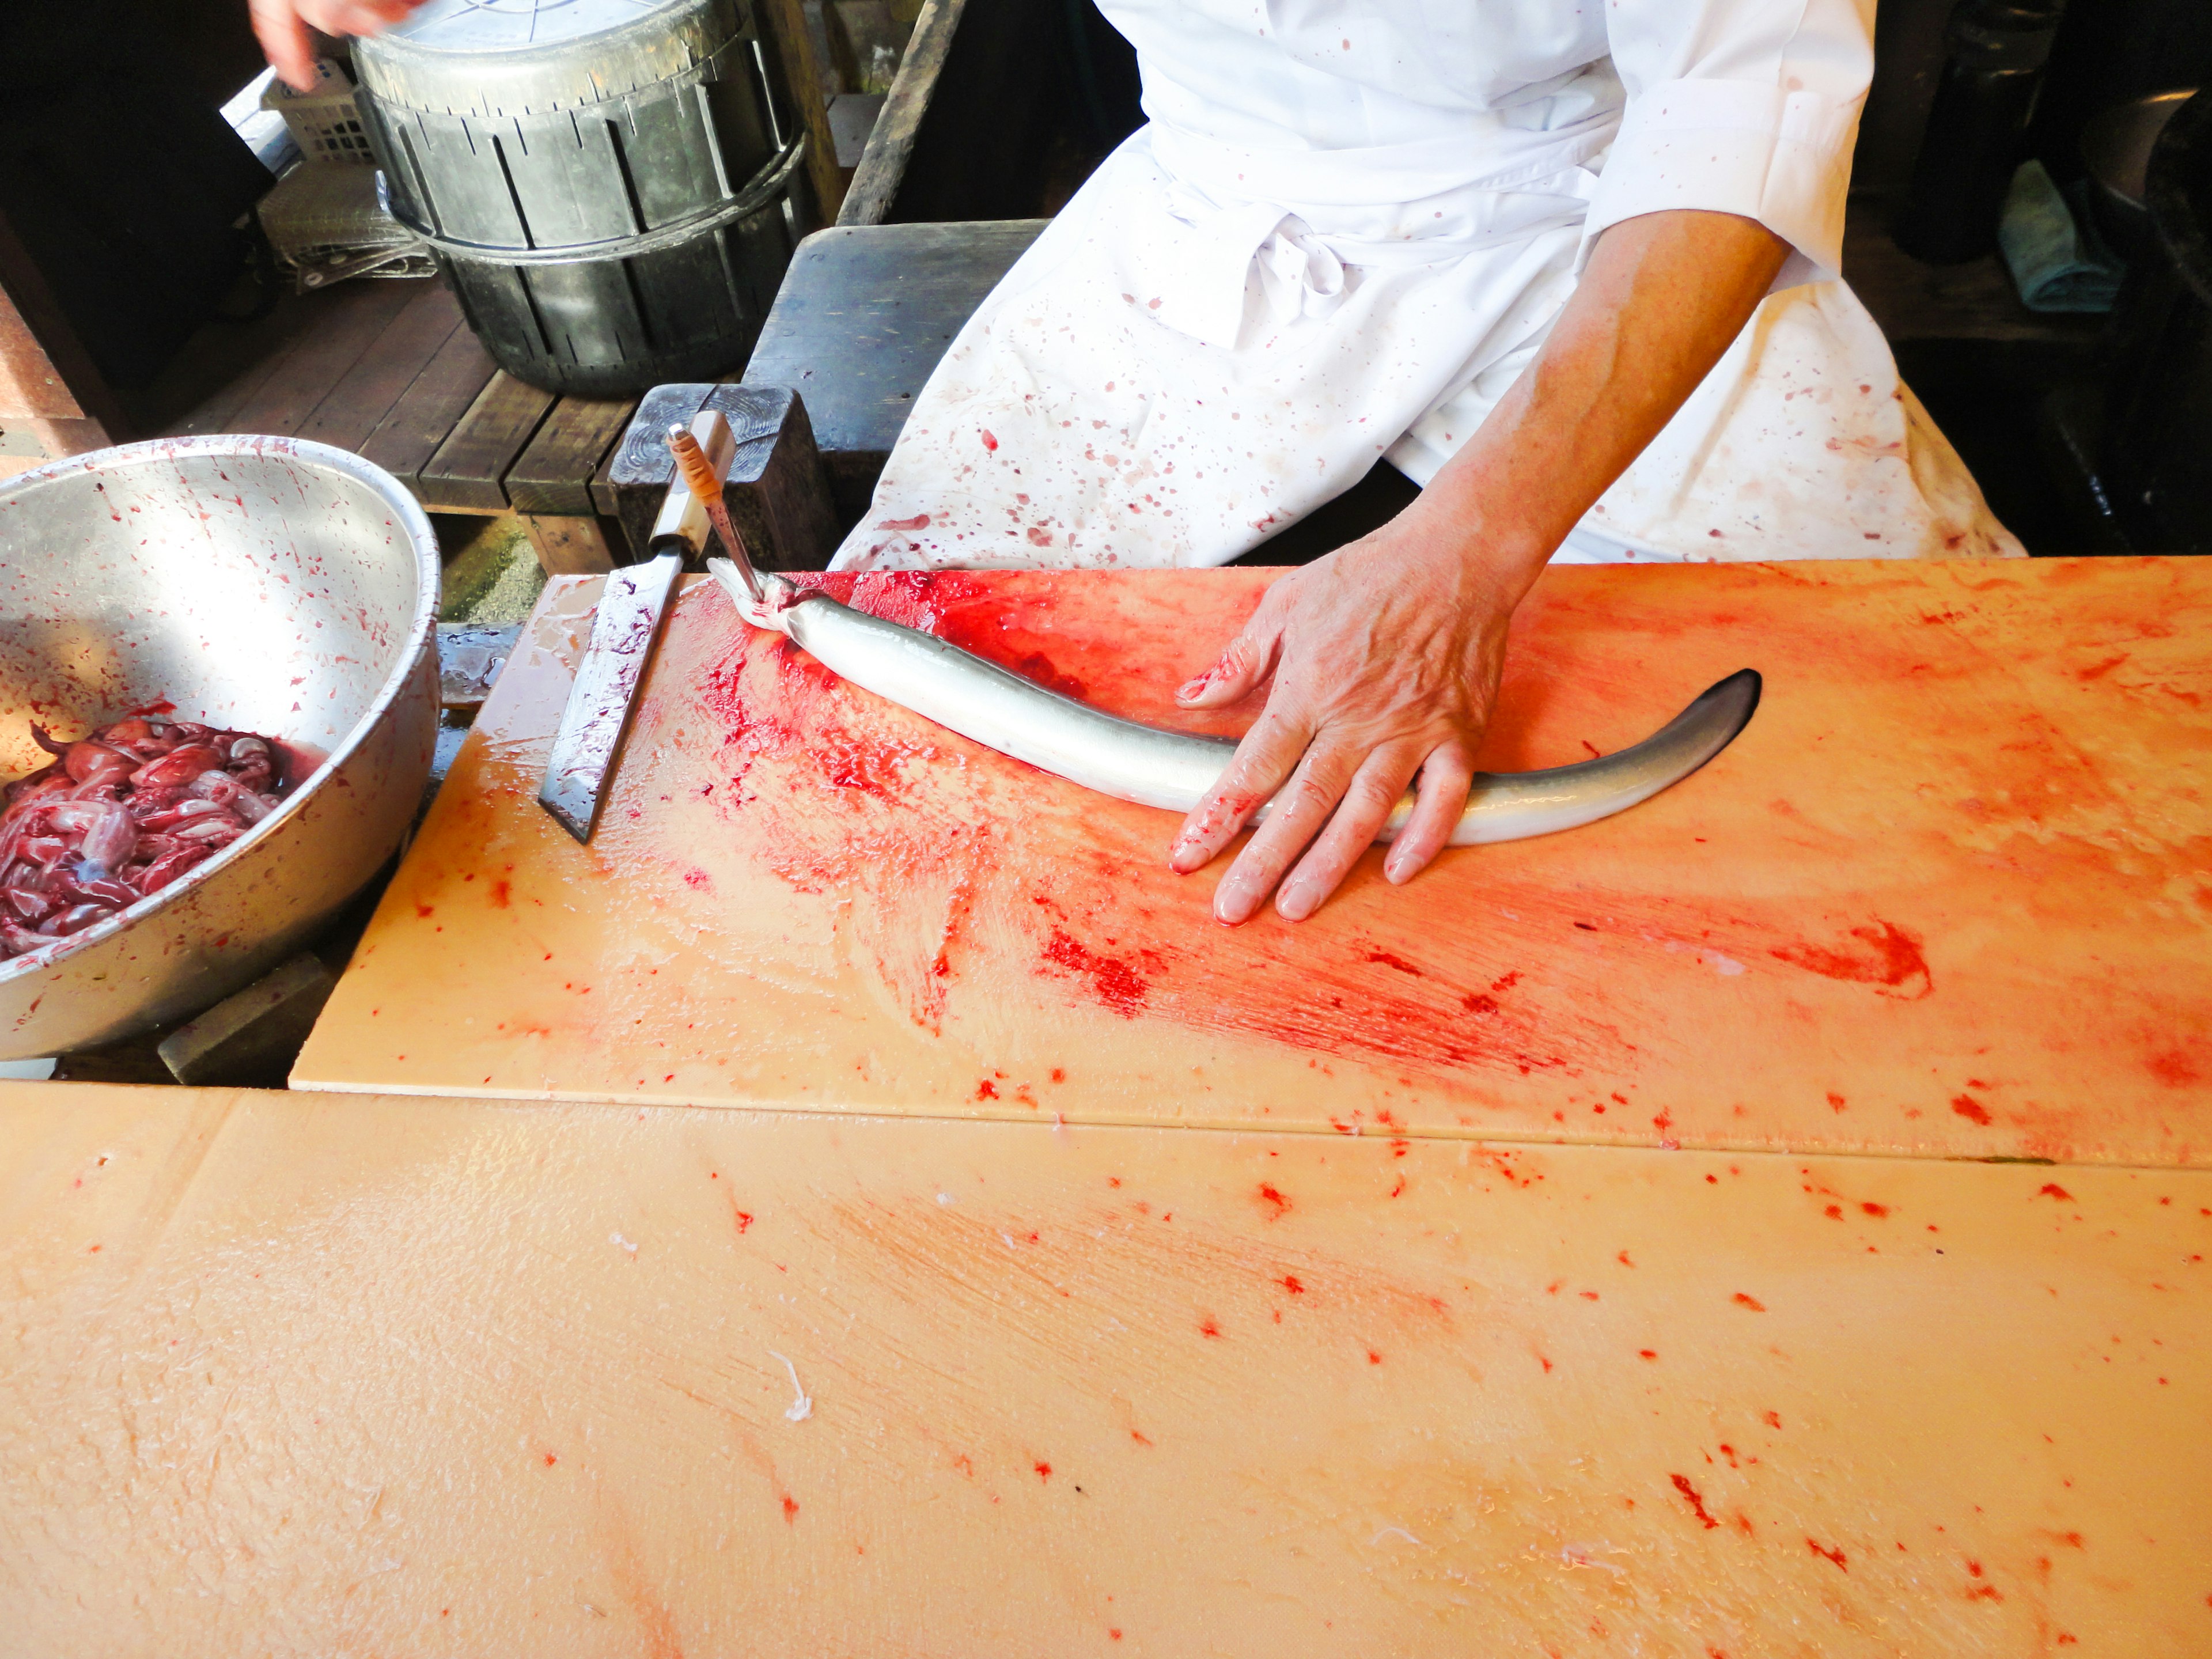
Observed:
[[[290,456],[314,462],[319,467],[327,467],[332,471],[345,473],[347,478],[354,478],[361,484],[367,484],[398,518],[398,524],[407,535],[407,544],[409,549],[414,549],[416,555],[416,608],[414,608],[414,622],[407,628],[407,641],[400,646],[392,672],[385,675],[385,684],[376,690],[376,697],[369,701],[369,708],[361,714],[358,721],[354,721],[354,728],[345,734],[345,739],[314,770],[314,776],[310,776],[294,794],[285,796],[283,805],[279,805],[276,812],[272,812],[268,818],[257,823],[243,836],[239,836],[228,847],[217,852],[212,858],[204,858],[201,863],[192,865],[186,874],[181,874],[161,891],[148,894],[135,905],[115,911],[115,916],[108,916],[104,922],[95,922],[93,927],[86,927],[82,933],[71,933],[60,945],[44,945],[35,951],[24,951],[22,956],[11,956],[7,960],[0,960],[0,984],[9,984],[13,980],[29,978],[31,973],[40,973],[49,967],[66,962],[69,958],[91,949],[93,945],[115,938],[128,927],[135,927],[137,922],[146,920],[148,916],[166,907],[170,900],[184,898],[195,887],[201,887],[208,880],[212,880],[217,874],[228,869],[239,856],[243,856],[250,847],[265,841],[276,830],[276,825],[283,825],[292,816],[296,816],[305,801],[314,799],[321,790],[330,785],[330,779],[336,776],[338,768],[354,754],[354,750],[358,750],[367,741],[369,732],[374,732],[376,726],[383,721],[385,710],[389,710],[392,703],[398,701],[398,695],[407,688],[407,679],[414,675],[416,657],[420,657],[420,653],[429,648],[429,641],[438,628],[438,595],[440,595],[442,564],[438,560],[438,535],[431,531],[429,515],[422,511],[422,504],[416,502],[416,498],[407,491],[407,487],[400,484],[400,480],[396,480],[383,467],[363,460],[349,449],[319,445],[312,438],[210,434],[204,438],[148,438],[135,445],[115,445],[113,449],[91,449],[82,456],[64,456],[62,460],[49,460],[42,467],[15,473],[4,484],[0,484],[0,504],[7,504],[9,498],[20,495],[31,484],[40,484],[53,478],[66,478],[71,473],[115,471],[119,467],[133,467],[139,462],[184,460],[195,456],[215,456],[215,458],[250,456],[254,460],[268,456]]]

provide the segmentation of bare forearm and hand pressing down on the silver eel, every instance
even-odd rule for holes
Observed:
[[[1725,212],[1613,226],[1535,363],[1420,500],[1267,588],[1179,692],[1219,708],[1267,688],[1168,854],[1177,872],[1203,867],[1276,796],[1214,889],[1219,920],[1248,920],[1267,894],[1287,920],[1312,916],[1416,772],[1418,803],[1383,874],[1411,880],[1436,858],[1467,805],[1513,606],[1721,361],[1787,254],[1765,226]]]

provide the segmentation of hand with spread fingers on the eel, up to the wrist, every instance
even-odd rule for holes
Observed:
[[[1250,920],[1267,894],[1285,920],[1312,916],[1416,774],[1413,816],[1383,874],[1411,880],[1460,821],[1506,622],[1542,555],[1469,553],[1464,526],[1444,518],[1416,502],[1281,577],[1221,659],[1177,692],[1183,708],[1221,708],[1267,686],[1259,721],[1168,854],[1177,874],[1201,869],[1274,796],[1214,889],[1217,920]]]

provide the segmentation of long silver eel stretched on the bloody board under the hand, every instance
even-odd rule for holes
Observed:
[[[761,602],[730,560],[708,560],[708,571],[745,622],[787,635],[854,686],[1117,801],[1190,812],[1237,752],[1228,737],[1166,732],[1077,703],[936,635],[854,611],[765,571],[759,573]],[[1478,772],[1449,845],[1548,836],[1626,812],[1725,750],[1756,708],[1759,672],[1741,668],[1626,750],[1542,772]],[[1254,821],[1265,812],[1261,807]],[[1376,838],[1396,836],[1411,812],[1407,794]]]

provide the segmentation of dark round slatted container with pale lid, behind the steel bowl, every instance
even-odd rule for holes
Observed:
[[[509,374],[619,394],[745,361],[818,215],[743,0],[431,0],[354,71],[394,217]]]

